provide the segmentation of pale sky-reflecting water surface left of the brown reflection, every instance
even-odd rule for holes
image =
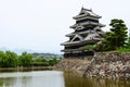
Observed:
[[[0,73],[0,87],[64,87],[63,72]]]

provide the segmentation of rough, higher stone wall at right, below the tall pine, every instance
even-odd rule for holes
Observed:
[[[87,67],[83,75],[109,78],[130,78],[130,53],[95,53],[90,67]]]

